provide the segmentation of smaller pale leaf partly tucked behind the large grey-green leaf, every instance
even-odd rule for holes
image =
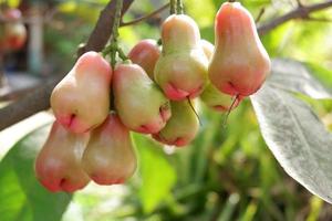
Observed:
[[[268,82],[274,87],[302,93],[312,98],[332,98],[332,92],[313,77],[304,64],[293,60],[273,60]]]

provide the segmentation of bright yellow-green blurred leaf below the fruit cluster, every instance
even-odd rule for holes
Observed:
[[[135,135],[134,139],[139,152],[142,175],[139,197],[144,212],[149,213],[169,196],[176,182],[176,171],[160,145],[145,136]]]

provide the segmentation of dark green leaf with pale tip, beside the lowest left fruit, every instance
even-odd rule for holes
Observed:
[[[1,220],[59,221],[71,196],[51,193],[34,176],[34,158],[46,139],[42,127],[18,141],[0,162]]]

